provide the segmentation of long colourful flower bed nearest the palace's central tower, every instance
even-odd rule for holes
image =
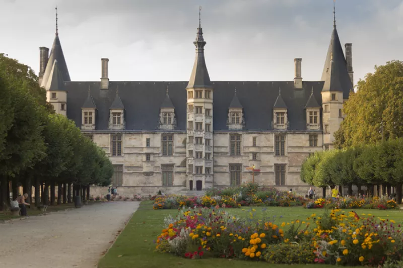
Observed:
[[[306,200],[295,194],[278,191],[276,188],[259,188],[255,184],[245,184],[237,188],[208,191],[203,197],[189,196],[155,196],[154,209],[174,209],[181,207],[222,207],[230,208],[245,206],[302,206]]]

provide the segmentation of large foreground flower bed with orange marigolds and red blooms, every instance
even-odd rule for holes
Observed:
[[[239,218],[223,209],[183,208],[165,218],[156,250],[185,258],[239,258],[270,263],[328,263],[378,266],[399,262],[400,225],[387,219],[361,218],[355,212],[327,210],[305,221],[278,225]],[[390,267],[400,267],[391,265]]]

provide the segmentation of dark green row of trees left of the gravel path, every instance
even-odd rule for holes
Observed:
[[[10,190],[15,199],[19,186],[29,199],[34,186],[35,205],[48,205],[49,187],[51,204],[56,185],[58,197],[71,202],[72,194],[84,196],[83,189],[88,198],[89,185],[109,185],[113,174],[105,152],[73,121],[54,114],[37,79],[30,67],[0,54],[1,210],[8,207]]]

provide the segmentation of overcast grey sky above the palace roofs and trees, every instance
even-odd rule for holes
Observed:
[[[72,80],[188,80],[198,6],[212,80],[319,80],[332,0],[0,0],[0,53],[39,69],[39,47],[59,38]],[[374,65],[403,58],[402,0],[337,0],[339,36],[353,43],[355,83]]]

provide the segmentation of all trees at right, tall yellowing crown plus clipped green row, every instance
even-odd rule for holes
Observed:
[[[401,203],[403,183],[403,62],[375,66],[358,81],[356,93],[343,105],[343,120],[335,132],[335,150],[316,152],[302,165],[304,182],[322,187],[374,185],[396,187]],[[386,191],[384,190],[383,193]]]

